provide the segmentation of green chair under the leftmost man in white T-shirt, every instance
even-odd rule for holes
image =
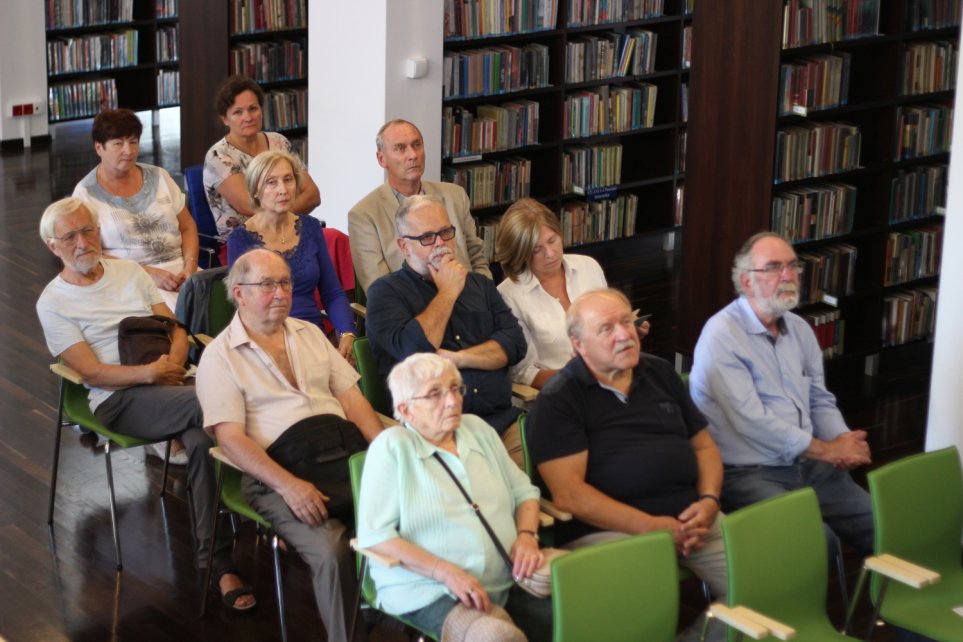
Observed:
[[[110,526],[114,535],[114,555],[117,558],[117,570],[124,567],[120,553],[120,534],[117,528],[117,501],[114,495],[114,471],[111,466],[110,453],[117,448],[135,448],[137,446],[147,446],[155,444],[163,439],[141,439],[131,437],[112,431],[102,424],[90,411],[90,404],[87,402],[87,388],[83,385],[80,374],[63,363],[50,365],[50,370],[60,377],[60,399],[57,403],[57,424],[54,428],[54,456],[53,465],[50,471],[50,498],[47,504],[47,527],[53,530],[53,509],[54,500],[57,496],[57,471],[60,464],[60,436],[62,429],[73,424],[77,424],[84,430],[89,430],[101,437],[104,443],[104,464],[107,466],[107,497],[110,502]],[[167,450],[164,453],[164,473],[161,483],[160,496],[163,500],[167,492],[167,470],[170,464],[171,444],[167,442]],[[188,493],[190,500],[190,493]],[[193,514],[193,512],[191,513]]]

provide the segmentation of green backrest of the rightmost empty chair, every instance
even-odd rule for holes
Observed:
[[[963,480],[957,449],[912,455],[866,478],[876,554],[897,555],[935,571],[959,572]]]

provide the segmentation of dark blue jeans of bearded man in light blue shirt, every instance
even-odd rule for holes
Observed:
[[[791,490],[816,491],[830,552],[838,536],[860,556],[873,554],[873,510],[869,493],[850,474],[823,461],[801,460],[791,466],[726,466],[722,502],[726,512]]]

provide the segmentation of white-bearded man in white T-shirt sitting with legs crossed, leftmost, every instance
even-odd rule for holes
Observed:
[[[229,608],[252,608],[254,595],[233,569],[226,532],[214,551],[207,550],[207,534],[216,518],[214,467],[207,455],[213,444],[203,430],[194,388],[184,386],[187,335],[174,330],[170,353],[152,363],[121,365],[117,328],[122,319],[151,314],[173,318],[154,282],[133,261],[103,258],[97,216],[80,199],[50,205],[40,219],[40,237],[64,266],[37,300],[50,353],[80,373],[90,390],[91,411],[111,430],[144,439],[181,440],[195,500],[197,564],[212,565]]]

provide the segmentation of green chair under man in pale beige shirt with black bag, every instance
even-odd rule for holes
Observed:
[[[211,448],[211,457],[214,458],[214,468],[217,474],[217,487],[214,491],[215,497],[220,498],[220,504],[218,506],[218,515],[222,512],[229,511],[241,517],[245,517],[255,524],[259,528],[263,528],[268,534],[268,539],[271,542],[271,553],[274,562],[274,587],[275,595],[277,596],[278,603],[278,620],[281,626],[281,640],[287,642],[288,639],[288,627],[287,619],[284,617],[284,585],[281,582],[281,538],[271,527],[271,522],[261,516],[254,507],[251,506],[247,499],[244,498],[244,493],[241,491],[241,471],[238,469],[227,455],[221,451],[217,446]],[[211,536],[208,540],[207,550],[214,550],[214,540],[217,538],[217,524],[221,521],[218,517],[215,517],[213,524],[211,525]],[[207,591],[206,587],[211,585],[211,565],[207,565],[207,570],[204,573],[204,584],[205,590],[201,592],[201,613],[200,617],[203,618],[207,611]]]

